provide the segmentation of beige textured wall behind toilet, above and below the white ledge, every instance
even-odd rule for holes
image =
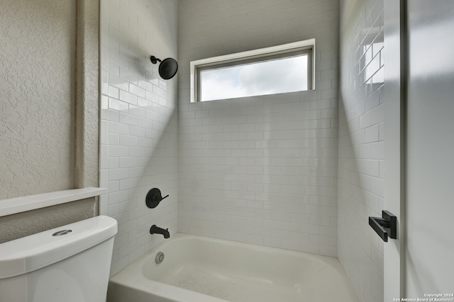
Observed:
[[[98,186],[99,1],[0,7],[0,199]],[[95,216],[97,207],[91,198],[2,216],[0,242]]]

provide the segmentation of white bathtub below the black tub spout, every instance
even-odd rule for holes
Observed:
[[[358,300],[336,258],[177,233],[111,277],[107,302],[128,301]]]

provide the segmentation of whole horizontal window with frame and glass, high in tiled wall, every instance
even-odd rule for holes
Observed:
[[[314,88],[315,40],[191,62],[192,102]]]

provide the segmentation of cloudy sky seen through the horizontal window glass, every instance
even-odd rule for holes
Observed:
[[[307,55],[200,72],[201,101],[307,90]]]

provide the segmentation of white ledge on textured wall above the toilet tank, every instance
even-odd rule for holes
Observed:
[[[29,195],[0,200],[0,216],[31,211],[56,204],[65,204],[79,199],[99,196],[107,193],[104,187],[84,187],[83,189],[62,190],[43,194]]]

